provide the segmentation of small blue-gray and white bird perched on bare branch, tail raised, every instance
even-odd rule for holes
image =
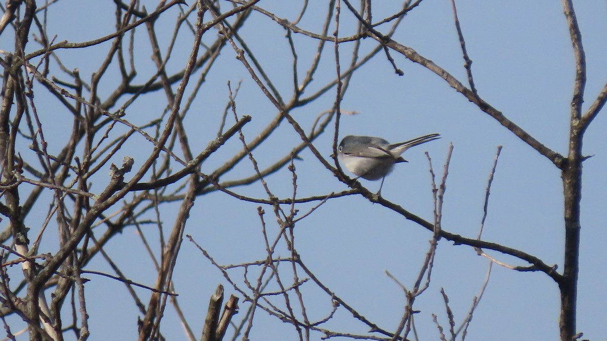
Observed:
[[[348,135],[339,143],[337,154],[346,169],[367,180],[381,179],[379,192],[386,175],[392,172],[395,163],[407,162],[401,154],[418,144],[436,140],[440,135],[433,133],[413,140],[390,144],[379,137]],[[378,194],[379,194],[378,192]]]

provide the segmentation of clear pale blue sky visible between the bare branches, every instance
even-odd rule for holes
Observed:
[[[188,1],[191,5],[192,1]],[[192,2],[192,3],[191,3]],[[144,1],[148,10],[156,1]],[[557,1],[456,1],[466,46],[473,60],[472,72],[478,93],[493,107],[501,110],[549,148],[566,154],[569,130],[569,103],[574,83],[574,59],[563,8]],[[223,4],[228,8],[227,4]],[[260,5],[273,10],[281,18],[293,21],[300,10],[300,1],[262,0]],[[311,32],[320,32],[325,17],[325,1],[310,1],[299,26]],[[399,2],[373,1],[373,18],[377,21],[398,11]],[[588,84],[586,109],[607,81],[607,4],[603,1],[575,2],[577,18],[582,30],[586,52]],[[166,48],[178,16],[177,7],[159,19],[157,30],[166,25]],[[61,0],[51,6],[48,16],[50,35],[56,41],[87,41],[114,30],[112,2],[96,0]],[[254,13],[240,31],[268,75],[284,95],[290,95],[292,64],[290,49],[283,30],[276,22]],[[342,8],[341,36],[354,34],[353,16]],[[381,29],[385,30],[384,27]],[[330,32],[333,32],[331,29]],[[385,32],[385,31],[384,31]],[[214,35],[216,32],[211,32]],[[147,35],[141,27],[137,34]],[[317,41],[304,35],[294,35],[300,61],[300,79],[316,52]],[[424,0],[402,22],[393,39],[412,47],[431,59],[467,85],[466,72],[453,24],[450,1]],[[209,41],[211,41],[209,39]],[[176,55],[168,65],[169,71],[183,68],[191,47],[191,35],[184,32],[178,39],[183,55]],[[12,44],[0,36],[0,49]],[[104,58],[109,42],[97,49],[59,50],[68,69],[78,67],[81,75],[96,70]],[[376,47],[373,39],[362,42],[362,51]],[[34,44],[30,48],[33,50]],[[37,47],[36,47],[37,48]],[[136,47],[137,48],[137,47]],[[352,44],[341,47],[342,66],[350,59]],[[276,115],[276,109],[259,91],[242,64],[234,58],[231,49],[225,49],[209,74],[194,106],[197,108],[186,119],[191,143],[199,143],[200,150],[214,138],[219,129],[223,108],[228,101],[226,83],[232,87],[242,80],[236,99],[239,115],[251,115],[253,121],[243,133],[253,139],[265,124]],[[232,55],[230,55],[232,53]],[[328,43],[317,73],[317,81],[324,84],[334,77],[333,45]],[[140,81],[148,79],[155,67],[148,47],[137,50]],[[365,64],[354,75],[341,103],[342,110],[356,111],[343,115],[340,136],[370,135],[383,137],[393,143],[409,140],[427,133],[441,133],[441,140],[423,144],[407,151],[407,164],[398,164],[386,178],[382,196],[399,204],[413,214],[432,221],[433,201],[430,186],[429,163],[425,151],[432,157],[435,172],[440,177],[449,144],[454,146],[447,178],[447,192],[443,208],[443,228],[466,237],[476,237],[483,217],[484,195],[489,172],[497,146],[503,146],[495,180],[491,188],[489,213],[483,239],[541,258],[548,265],[562,266],[563,260],[563,192],[560,173],[548,159],[524,144],[509,130],[501,127],[462,95],[450,88],[443,79],[424,67],[392,53],[396,65],[404,72],[395,74],[390,62],[381,53]],[[148,66],[146,70],[143,66]],[[87,76],[84,76],[85,78]],[[113,89],[108,87],[108,92]],[[314,86],[312,87],[314,89]],[[104,93],[104,90],[101,90]],[[156,96],[156,97],[155,97]],[[329,110],[335,98],[334,90],[311,106],[293,112],[296,120],[307,131],[317,115]],[[157,116],[163,110],[166,98],[158,92],[146,96],[127,112],[137,123],[147,122],[147,113]],[[54,104],[44,108],[43,123],[48,129],[61,129],[57,117],[67,113],[53,113]],[[62,110],[56,107],[55,110]],[[53,116],[56,115],[56,116]],[[141,119],[138,120],[137,116]],[[594,155],[584,163],[582,200],[582,240],[578,291],[578,331],[584,339],[605,340],[604,324],[607,304],[607,252],[604,244],[607,229],[603,217],[607,209],[607,154],[605,128],[607,121],[600,113],[586,133],[583,152]],[[194,136],[192,132],[199,132]],[[56,138],[57,148],[61,136]],[[199,141],[196,140],[199,138]],[[288,123],[283,123],[277,134],[268,139],[254,156],[260,167],[272,164],[285,155],[299,137]],[[325,156],[331,155],[331,130],[314,141],[314,146]],[[53,144],[50,145],[53,147]],[[149,146],[148,146],[149,147]],[[240,149],[240,142],[229,141],[208,162],[203,172],[211,171]],[[135,167],[145,155],[137,144],[125,146],[124,155],[135,157]],[[200,150],[194,150],[199,152]],[[327,195],[347,189],[320,164],[314,156],[303,152],[295,166],[298,175],[299,197]],[[119,162],[119,161],[117,161]],[[253,174],[250,163],[242,163],[222,180],[238,179]],[[290,197],[291,174],[282,169],[266,178],[270,189],[280,198]],[[379,181],[361,180],[363,186],[376,192]],[[100,185],[101,186],[101,185]],[[94,188],[94,187],[93,187]],[[259,184],[238,187],[236,192],[264,198]],[[217,262],[227,265],[259,260],[265,256],[257,204],[245,203],[220,192],[204,195],[195,203],[186,226],[192,235]],[[302,204],[304,214],[314,204]],[[170,229],[178,207],[166,208],[164,224]],[[174,209],[174,211],[171,211]],[[268,229],[271,235],[278,231],[271,208],[266,207]],[[2,221],[6,224],[7,220]],[[405,296],[390,279],[389,271],[407,288],[411,288],[424,259],[431,235],[426,229],[405,220],[379,204],[371,204],[357,195],[329,200],[313,214],[297,223],[297,249],[302,260],[331,290],[350,303],[367,319],[384,329],[393,330],[402,316]],[[136,231],[125,229],[106,248],[121,269],[135,282],[153,285],[156,272],[146,251],[136,237]],[[152,238],[150,238],[152,239]],[[49,246],[52,249],[53,246]],[[44,252],[41,250],[41,252]],[[288,251],[284,249],[284,255]],[[502,262],[527,265],[513,258],[489,252]],[[416,328],[421,340],[438,340],[438,331],[431,314],[438,316],[441,325],[448,321],[440,289],[449,295],[450,307],[456,325],[466,317],[472,299],[483,286],[489,263],[468,246],[453,246],[447,240],[439,241],[432,282],[426,293],[416,301]],[[101,258],[88,269],[110,272]],[[237,272],[234,272],[237,275]],[[132,340],[137,336],[137,308],[132,303],[123,283],[103,277],[90,277],[86,284],[87,309],[90,314],[91,340]],[[181,307],[195,330],[202,329],[208,306],[208,297],[219,283],[226,286],[226,296],[234,291],[208,260],[188,240],[181,245],[174,280]],[[309,302],[310,319],[320,319],[330,309],[330,298],[312,283],[302,286]],[[137,289],[143,296],[148,294]],[[468,328],[467,340],[555,340],[558,339],[559,292],[556,283],[541,272],[517,272],[493,266],[489,283],[480,305]],[[241,314],[248,307],[241,303]],[[257,311],[258,320],[251,340],[294,340],[293,327]],[[365,333],[367,328],[340,310],[327,328],[351,333]],[[197,328],[197,329],[196,329]],[[161,325],[164,336],[183,340],[180,323],[171,308],[166,310]],[[313,334],[319,340],[322,335]]]

